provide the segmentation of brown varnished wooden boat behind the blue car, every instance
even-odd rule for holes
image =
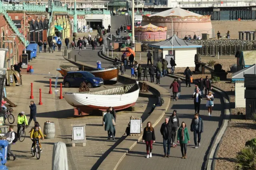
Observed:
[[[82,69],[81,67],[77,67],[77,66],[60,65],[60,68],[57,69],[57,71],[59,71],[63,77],[68,73],[68,71],[80,71],[80,70],[89,71],[95,77],[100,77],[104,81],[115,81],[115,82],[118,81],[119,71],[117,67],[107,67],[107,68],[101,68],[101,69],[97,69],[97,68]]]

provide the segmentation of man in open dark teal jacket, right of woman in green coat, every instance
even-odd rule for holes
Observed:
[[[199,117],[198,113],[194,114],[194,118],[192,119],[191,125],[190,125],[190,131],[194,132],[195,148],[198,148],[200,146],[201,133],[204,132],[203,120],[201,117]],[[196,136],[198,136],[197,141],[196,141]]]

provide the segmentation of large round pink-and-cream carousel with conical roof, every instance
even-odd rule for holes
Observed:
[[[212,38],[212,23],[211,16],[202,16],[182,8],[172,8],[163,12],[159,12],[150,16],[142,16],[142,26],[147,24],[155,26],[167,27],[168,30],[173,30],[179,38],[184,38],[186,35],[194,34],[202,36],[209,34]]]

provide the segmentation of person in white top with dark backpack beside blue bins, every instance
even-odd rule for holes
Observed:
[[[12,152],[11,150],[11,147],[12,147],[12,144],[14,144],[15,142],[17,142],[18,140],[18,135],[17,133],[15,133],[13,131],[13,128],[14,126],[13,125],[10,125],[9,126],[9,131],[5,134],[0,134],[0,136],[4,136],[6,137],[6,140],[8,142],[8,147],[7,147],[7,160],[10,160],[10,155],[13,156],[13,160],[16,160],[16,156],[15,154]]]

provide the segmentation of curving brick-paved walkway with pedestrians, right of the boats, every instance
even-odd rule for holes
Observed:
[[[98,49],[99,50],[99,49]],[[107,67],[111,62],[106,61],[99,56],[96,56],[97,51],[92,51],[91,49],[86,49],[82,51],[72,51],[72,55],[78,54],[78,61],[84,61],[92,65],[96,65],[96,61],[100,60],[102,62],[102,67]],[[88,57],[90,56],[90,57]],[[145,65],[143,65],[145,66]],[[130,70],[126,70],[126,74],[130,75]],[[160,86],[169,89],[170,83],[173,78],[162,77],[160,79]],[[166,112],[166,116],[170,117],[172,111],[177,110],[178,116],[180,118],[180,123],[184,121],[190,131],[190,123],[194,117],[194,101],[192,99],[192,93],[194,92],[194,85],[192,87],[186,87],[185,83],[182,83],[182,92],[180,99],[178,101],[172,101],[170,104],[170,109]],[[204,95],[205,96],[205,95]],[[190,144],[188,145],[187,156],[188,158],[182,159],[180,146],[176,148],[171,148],[170,158],[163,158],[163,146],[162,146],[162,136],[160,134],[161,124],[164,123],[164,118],[155,127],[156,131],[156,143],[153,145],[153,156],[152,158],[146,157],[146,146],[144,143],[139,142],[136,144],[130,152],[124,157],[118,170],[130,170],[130,169],[190,169],[190,170],[200,170],[204,169],[206,157],[211,144],[214,140],[218,128],[222,123],[222,111],[224,110],[223,101],[220,99],[220,95],[214,94],[214,108],[212,111],[212,117],[208,116],[208,111],[206,107],[206,100],[202,100],[200,116],[204,121],[204,133],[202,133],[201,146],[197,149],[194,148],[194,136],[192,132],[190,134]],[[166,160],[169,159],[169,160]]]

